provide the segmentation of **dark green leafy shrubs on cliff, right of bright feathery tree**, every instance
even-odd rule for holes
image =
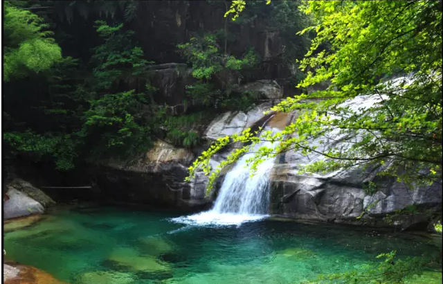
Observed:
[[[140,47],[134,46],[131,30],[123,31],[123,24],[109,26],[105,21],[96,21],[97,33],[105,42],[94,48],[91,57],[95,64],[93,89],[98,91],[85,112],[82,131],[91,147],[91,158],[99,159],[109,154],[127,155],[147,150],[150,140],[150,122],[143,118],[143,106],[149,102],[142,92],[141,79],[147,74],[148,62]],[[138,82],[137,90],[113,93],[120,81]],[[150,86],[145,87],[150,91]],[[92,142],[93,141],[93,142]]]

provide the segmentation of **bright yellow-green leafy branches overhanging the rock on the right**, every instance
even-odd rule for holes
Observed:
[[[264,132],[259,138],[245,130],[226,136],[204,151],[189,168],[199,167],[210,177],[208,189],[221,168],[235,162],[262,140],[277,141],[262,147],[248,160],[257,165],[289,149],[320,154],[324,159],[305,165],[301,172],[329,172],[362,166],[380,168],[409,186],[432,184],[442,178],[442,13],[441,1],[309,1],[302,10],[313,14],[316,26],[311,48],[300,61],[308,67],[298,87],[329,82],[325,91],[287,98],[271,110],[300,114],[282,132]],[[321,44],[331,48],[320,52]],[[386,82],[386,76],[410,74],[409,80]],[[345,104],[357,96],[378,98],[368,108]],[[310,99],[322,98],[319,101]],[[320,115],[326,114],[326,115]],[[325,133],[349,135],[349,147],[324,152],[311,141]],[[215,169],[210,157],[228,143],[251,142],[235,150]],[[188,177],[189,179],[189,177]]]

